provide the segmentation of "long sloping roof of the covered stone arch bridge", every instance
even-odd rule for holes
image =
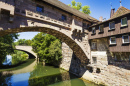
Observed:
[[[58,0],[42,0],[42,1],[47,2],[47,3],[51,4],[51,5],[54,5],[54,6],[60,8],[62,10],[65,10],[65,11],[75,15],[75,16],[86,19],[86,20],[88,20],[90,22],[98,22],[97,19],[95,19],[95,18],[93,18],[93,17],[91,17],[91,16],[89,16],[87,14],[84,14],[84,13],[82,13],[82,12],[80,12],[80,11],[78,11],[78,10],[76,10],[76,9],[74,9],[74,8],[60,2],[60,1],[58,1]]]

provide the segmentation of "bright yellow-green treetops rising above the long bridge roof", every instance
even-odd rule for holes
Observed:
[[[81,12],[85,13],[85,14],[90,14],[90,7],[88,5],[82,6],[81,2],[75,2],[75,0],[71,1],[71,4],[68,4],[69,6],[71,6],[72,8],[76,9],[76,10],[81,10]]]

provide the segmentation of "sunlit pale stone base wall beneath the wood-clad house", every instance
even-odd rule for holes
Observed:
[[[130,71],[112,65],[100,68],[100,73],[86,71],[82,78],[107,86],[130,86]]]

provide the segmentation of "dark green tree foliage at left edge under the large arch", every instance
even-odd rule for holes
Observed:
[[[7,54],[13,53],[13,42],[18,39],[18,36],[18,34],[10,34],[0,37],[0,65],[2,65]]]

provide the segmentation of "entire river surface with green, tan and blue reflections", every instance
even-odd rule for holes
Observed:
[[[53,66],[32,62],[17,70],[0,72],[0,86],[98,86]]]

